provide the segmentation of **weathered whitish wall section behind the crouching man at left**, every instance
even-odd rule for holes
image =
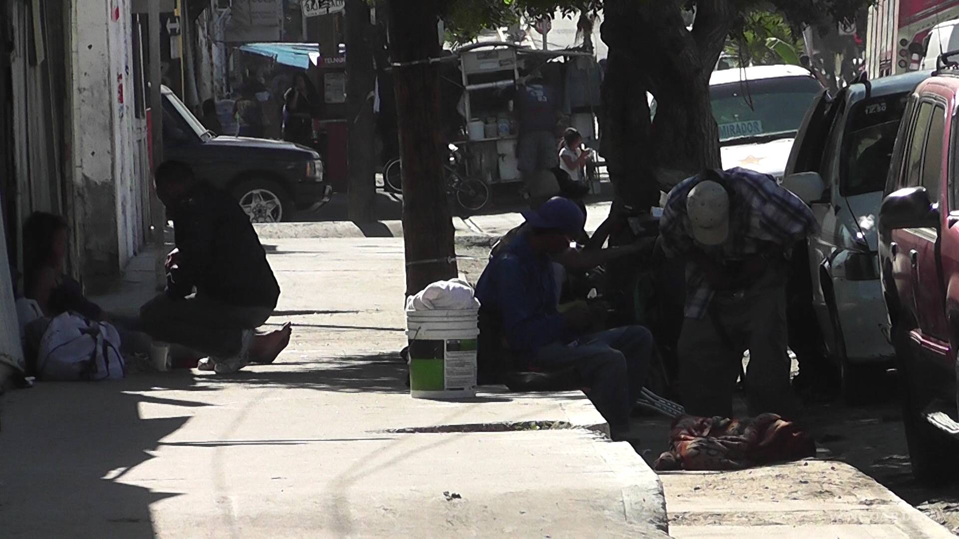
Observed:
[[[82,276],[97,290],[143,246],[141,120],[135,118],[129,0],[73,0],[73,182]]]

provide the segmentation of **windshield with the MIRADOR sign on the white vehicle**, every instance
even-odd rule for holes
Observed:
[[[795,136],[823,87],[811,77],[782,77],[710,86],[719,143],[737,138]]]

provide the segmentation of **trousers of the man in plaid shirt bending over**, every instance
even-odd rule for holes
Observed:
[[[733,416],[733,393],[748,349],[744,382],[750,413],[795,416],[785,305],[784,281],[767,275],[740,296],[717,293],[706,316],[685,319],[679,338],[679,385],[688,413]]]

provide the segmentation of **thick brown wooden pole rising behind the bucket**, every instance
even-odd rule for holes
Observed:
[[[389,39],[403,160],[407,293],[456,277],[453,218],[441,152],[438,16],[433,2],[390,0]]]

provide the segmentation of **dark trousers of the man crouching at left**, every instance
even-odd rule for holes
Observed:
[[[203,295],[159,294],[140,309],[142,330],[154,340],[229,358],[240,352],[244,331],[262,326],[273,307],[240,307]]]

